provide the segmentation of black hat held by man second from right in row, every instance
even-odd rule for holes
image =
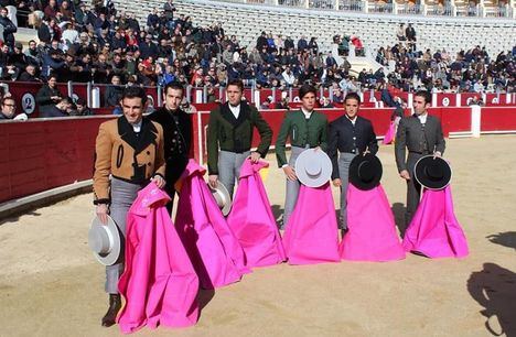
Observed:
[[[370,153],[355,156],[350,164],[350,182],[357,188],[368,191],[381,180],[381,162]]]

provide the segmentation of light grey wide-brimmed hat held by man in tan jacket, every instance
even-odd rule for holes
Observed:
[[[107,225],[95,217],[88,231],[88,246],[98,262],[105,265],[117,262],[121,251],[120,232],[109,216]]]

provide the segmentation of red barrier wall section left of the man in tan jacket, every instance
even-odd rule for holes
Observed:
[[[106,118],[0,123],[0,203],[92,178]]]

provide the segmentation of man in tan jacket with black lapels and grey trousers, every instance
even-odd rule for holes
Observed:
[[[100,124],[95,144],[94,194],[96,214],[107,225],[110,214],[120,232],[126,235],[129,207],[149,181],[158,187],[165,185],[163,129],[142,116],[147,95],[140,87],[128,87],[120,99],[123,115]],[[109,308],[103,326],[115,324],[121,302],[118,279],[123,272],[123,257],[106,267],[106,292]]]

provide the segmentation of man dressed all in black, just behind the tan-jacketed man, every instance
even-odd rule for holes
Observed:
[[[169,83],[163,91],[164,106],[149,116],[150,120],[163,127],[165,168],[165,192],[172,198],[166,209],[172,214],[174,202],[174,184],[180,178],[190,157],[192,144],[192,121],[190,116],[181,110],[184,88],[179,83]]]

